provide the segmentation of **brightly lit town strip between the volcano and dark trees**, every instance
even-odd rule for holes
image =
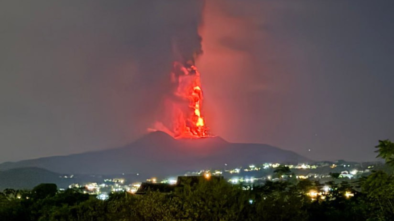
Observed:
[[[184,174],[170,175],[168,177],[151,177],[146,180],[128,180],[119,175],[118,177],[102,179],[102,182],[74,183],[72,180],[76,175],[64,175],[62,179],[69,179],[69,188],[79,189],[84,193],[97,195],[98,199],[108,199],[110,193],[129,192],[137,193],[141,184],[166,184],[177,185],[178,176],[193,177],[223,177],[227,182],[241,185],[243,189],[253,189],[255,186],[264,185],[267,181],[292,181],[311,180],[317,181],[325,190],[341,182],[353,183],[361,177],[368,176],[375,168],[381,167],[380,162],[315,162],[313,164],[279,164],[263,163],[250,164],[244,167],[231,167],[223,165],[222,169],[202,169],[199,171],[187,171]],[[61,189],[61,190],[64,190]]]

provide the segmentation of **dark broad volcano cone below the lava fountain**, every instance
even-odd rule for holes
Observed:
[[[38,167],[68,174],[176,175],[186,170],[245,166],[263,162],[310,162],[292,151],[266,144],[229,143],[220,137],[176,140],[163,132],[143,136],[125,147],[69,156],[0,164],[0,170]]]

